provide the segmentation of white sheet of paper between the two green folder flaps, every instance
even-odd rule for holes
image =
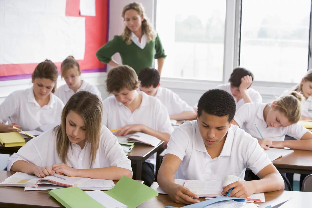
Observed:
[[[103,191],[85,191],[86,194],[91,196],[95,201],[99,202],[106,208],[126,208],[127,206],[123,203],[115,200],[114,198],[108,196]]]

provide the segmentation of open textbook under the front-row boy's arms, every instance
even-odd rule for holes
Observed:
[[[222,196],[222,187],[227,186],[235,181],[245,181],[239,177],[229,175],[225,177],[224,181],[198,181],[198,180],[182,180],[174,179],[176,184],[187,187],[190,191],[197,194],[199,197],[219,197]],[[154,182],[151,186],[160,194],[167,194]],[[265,202],[264,193],[255,193],[246,198],[248,201]]]

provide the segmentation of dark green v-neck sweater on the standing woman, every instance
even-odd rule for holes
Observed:
[[[155,40],[146,43],[144,49],[133,41],[127,45],[121,36],[116,35],[96,52],[96,57],[107,64],[115,53],[120,54],[122,64],[131,66],[137,74],[145,67],[152,67],[154,59],[166,57],[158,34]]]

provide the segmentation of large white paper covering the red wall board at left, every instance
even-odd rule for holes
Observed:
[[[6,32],[0,35],[0,64],[40,63],[45,59],[62,62],[69,55],[84,59],[85,17],[66,17],[66,0],[51,1],[55,4],[49,0],[4,2],[0,30]]]

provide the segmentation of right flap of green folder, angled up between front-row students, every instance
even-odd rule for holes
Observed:
[[[104,191],[104,193],[127,205],[127,208],[135,208],[143,202],[158,196],[157,191],[154,189],[126,176],[121,177],[114,188]]]

